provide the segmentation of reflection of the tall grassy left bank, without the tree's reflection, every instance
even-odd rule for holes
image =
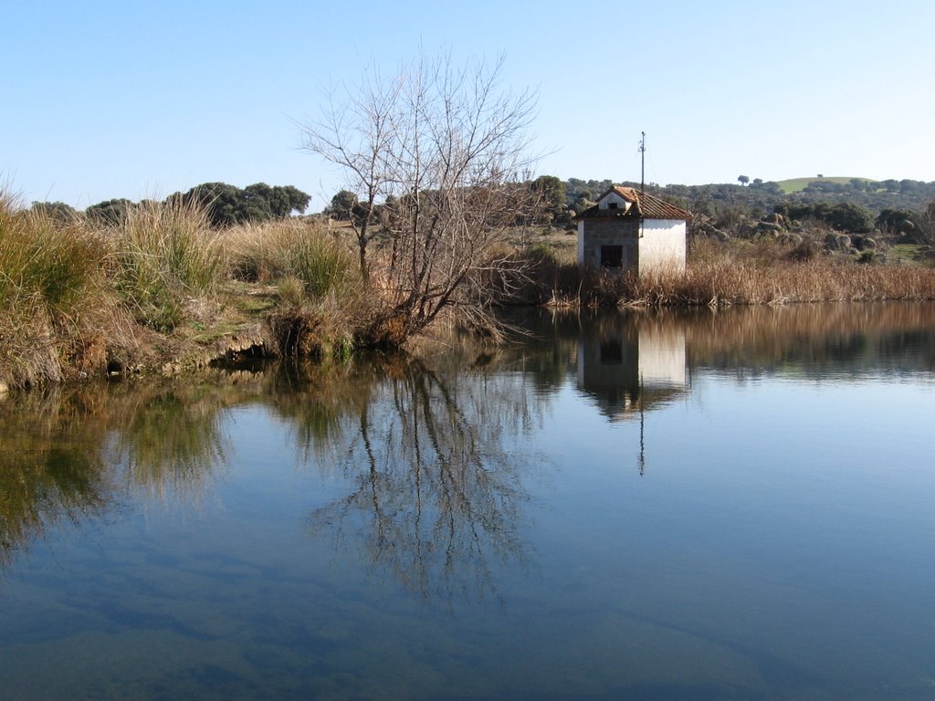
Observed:
[[[0,565],[137,489],[185,500],[208,489],[224,462],[221,410],[244,400],[235,376],[211,379],[51,388],[0,404]]]

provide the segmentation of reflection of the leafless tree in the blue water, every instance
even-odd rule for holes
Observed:
[[[522,427],[522,378],[446,377],[420,363],[389,368],[345,427],[350,494],[315,511],[316,533],[358,546],[425,598],[496,594],[492,566],[522,560],[522,459],[503,426]]]

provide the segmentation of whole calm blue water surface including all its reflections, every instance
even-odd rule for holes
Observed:
[[[2,699],[935,699],[935,307],[0,401]]]

